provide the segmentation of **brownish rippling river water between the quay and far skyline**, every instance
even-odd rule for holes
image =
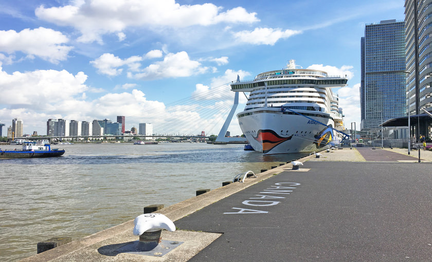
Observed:
[[[167,207],[239,173],[301,156],[206,143],[58,147],[66,150],[62,157],[0,159],[0,261],[34,255],[48,238],[85,237],[134,219],[147,205]]]

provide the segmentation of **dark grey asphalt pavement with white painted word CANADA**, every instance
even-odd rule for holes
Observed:
[[[223,233],[190,261],[430,261],[431,190],[429,163],[306,161],[175,226]]]

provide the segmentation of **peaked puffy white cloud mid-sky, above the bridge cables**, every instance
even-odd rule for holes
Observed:
[[[162,78],[189,77],[193,74],[200,74],[208,71],[200,62],[189,59],[187,52],[168,53],[163,61],[155,62],[141,72],[129,74],[129,77],[143,80]]]

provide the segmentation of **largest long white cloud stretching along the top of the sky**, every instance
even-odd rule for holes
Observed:
[[[81,32],[80,42],[102,43],[102,35],[122,32],[128,27],[184,28],[218,23],[254,23],[256,13],[242,7],[225,12],[213,4],[180,5],[174,0],[89,0],[74,1],[60,7],[40,6],[35,15],[60,26],[71,26]]]

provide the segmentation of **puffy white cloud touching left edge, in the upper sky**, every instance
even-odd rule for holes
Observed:
[[[61,32],[43,27],[27,28],[21,32],[0,31],[0,52],[23,52],[30,59],[40,57],[54,64],[67,59],[67,54],[73,48],[64,45],[67,42],[69,39]]]

